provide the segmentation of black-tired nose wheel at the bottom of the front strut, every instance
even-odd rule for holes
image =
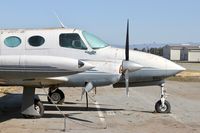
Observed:
[[[165,106],[162,107],[161,100],[159,100],[155,104],[155,110],[157,113],[170,113],[171,105],[167,100],[165,100]]]

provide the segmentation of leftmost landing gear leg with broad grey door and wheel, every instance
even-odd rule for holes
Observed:
[[[35,98],[35,88],[24,87],[21,113],[25,118],[40,118],[44,115],[44,106]]]

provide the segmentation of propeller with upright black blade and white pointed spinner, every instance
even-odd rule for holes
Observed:
[[[127,20],[126,44],[125,44],[125,60],[122,61],[122,74],[124,75],[126,85],[126,95],[129,96],[129,72],[141,69],[142,66],[129,61],[129,19]]]

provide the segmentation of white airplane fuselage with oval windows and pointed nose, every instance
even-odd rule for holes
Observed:
[[[124,79],[120,73],[120,66],[125,58],[124,49],[103,44],[104,42],[99,41],[98,38],[78,29],[0,30],[1,56],[66,57],[88,62],[95,66],[93,69],[78,74],[49,76],[49,78],[12,76],[12,80],[6,80],[9,79],[6,78],[9,75],[0,73],[0,79],[4,81],[1,84],[38,87],[57,84],[58,86],[77,87],[92,82],[94,86],[114,84],[115,87],[123,87]],[[49,59],[47,58],[47,60]],[[184,70],[181,66],[165,58],[140,51],[131,50],[130,61],[143,66],[142,69],[129,73],[130,86],[161,84],[166,77]],[[42,70],[42,68],[38,69]],[[25,71],[20,72],[24,73]],[[29,73],[29,75],[32,74]],[[57,77],[56,80],[55,77]],[[62,80],[63,78],[65,80]]]

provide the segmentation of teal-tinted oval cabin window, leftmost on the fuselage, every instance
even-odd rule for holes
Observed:
[[[4,44],[8,47],[17,47],[21,44],[21,39],[16,36],[10,36],[4,40]]]

